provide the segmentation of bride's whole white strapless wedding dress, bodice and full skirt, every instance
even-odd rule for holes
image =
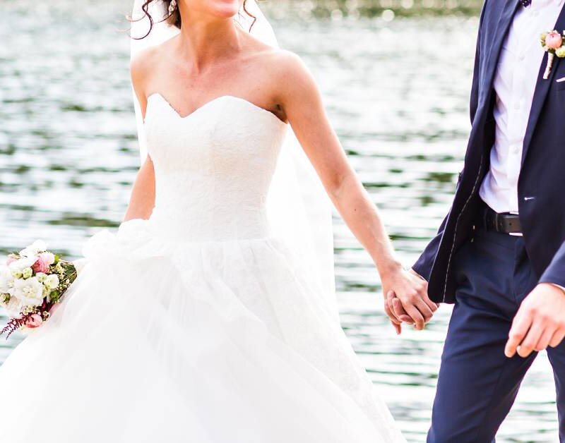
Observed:
[[[148,99],[148,220],[102,231],[0,367],[9,443],[404,442],[323,294],[271,236],[287,125],[242,98]]]

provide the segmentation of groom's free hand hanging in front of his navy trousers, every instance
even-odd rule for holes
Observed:
[[[522,302],[512,322],[504,353],[511,358],[518,351],[527,357],[532,351],[559,345],[565,337],[565,292],[558,286],[540,283]]]

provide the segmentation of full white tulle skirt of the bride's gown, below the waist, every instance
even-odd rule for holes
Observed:
[[[85,257],[0,367],[0,441],[404,441],[275,238],[172,241],[132,220]]]

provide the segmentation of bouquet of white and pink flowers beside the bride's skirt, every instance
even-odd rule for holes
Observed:
[[[7,339],[18,329],[40,327],[76,276],[73,263],[49,252],[41,240],[8,255],[0,265],[0,306],[10,320],[0,335],[7,333]]]

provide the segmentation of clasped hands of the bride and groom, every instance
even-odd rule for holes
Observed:
[[[427,281],[405,269],[383,276],[382,281],[385,311],[397,332],[400,332],[398,322],[415,324],[416,329],[424,329],[438,308],[428,297]]]

